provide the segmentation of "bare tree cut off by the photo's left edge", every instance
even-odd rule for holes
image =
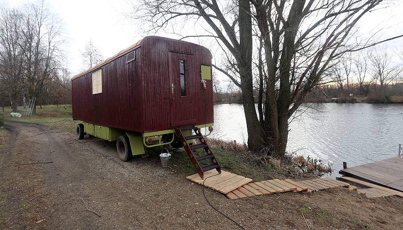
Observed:
[[[3,95],[10,97],[12,111],[17,112],[17,104],[23,88],[23,50],[20,46],[21,12],[0,6],[0,82]]]

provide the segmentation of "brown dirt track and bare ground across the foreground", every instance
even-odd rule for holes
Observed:
[[[113,143],[7,122],[0,148],[0,229],[237,229],[201,186],[156,159],[121,162]],[[38,163],[39,162],[39,163]],[[246,229],[396,229],[403,199],[347,189],[208,199]],[[304,214],[304,217],[302,216]],[[398,228],[398,227],[397,227]]]

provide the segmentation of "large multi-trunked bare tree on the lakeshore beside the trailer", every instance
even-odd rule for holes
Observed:
[[[267,154],[284,156],[290,117],[306,95],[324,83],[329,63],[343,53],[372,45],[349,38],[362,17],[382,2],[143,0],[133,18],[148,22],[149,31],[202,21],[208,28],[201,30],[203,34],[196,30],[183,39],[204,37],[222,49],[224,60],[214,67],[242,92],[249,149],[265,147]],[[260,55],[253,52],[256,40],[262,41],[263,50],[257,65],[261,71],[257,85],[262,88],[257,100],[259,115],[253,97],[256,68],[252,68],[252,59]]]

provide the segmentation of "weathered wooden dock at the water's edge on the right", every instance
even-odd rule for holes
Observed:
[[[403,157],[342,169],[340,174],[403,192]]]

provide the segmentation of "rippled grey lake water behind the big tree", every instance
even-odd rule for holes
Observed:
[[[337,176],[343,168],[397,156],[403,144],[403,104],[305,104],[306,112],[293,119],[287,150],[330,162]],[[243,107],[214,106],[212,137],[247,141]]]

